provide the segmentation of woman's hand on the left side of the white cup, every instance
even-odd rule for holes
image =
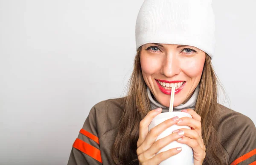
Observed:
[[[165,120],[164,122],[158,124],[150,131],[148,131],[149,124],[155,116],[161,113],[161,111],[161,108],[151,110],[143,118],[143,120],[140,121],[140,133],[139,139],[137,141],[137,155],[140,165],[158,165],[163,160],[172,157],[181,151],[181,148],[178,147],[157,154],[161,148],[168,145],[172,141],[183,137],[184,134],[184,131],[175,132],[156,141],[159,134],[179,121],[178,117],[173,117],[171,119]]]

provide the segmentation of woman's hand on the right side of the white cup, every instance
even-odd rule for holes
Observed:
[[[202,165],[206,155],[206,148],[202,139],[201,116],[193,109],[185,109],[181,112],[189,113],[192,118],[181,117],[181,122],[177,123],[177,125],[189,126],[191,129],[179,129],[184,131],[184,135],[182,140],[177,140],[177,142],[189,145],[193,149],[194,165]]]

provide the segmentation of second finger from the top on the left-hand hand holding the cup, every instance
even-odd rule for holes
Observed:
[[[154,128],[152,128],[143,143],[137,148],[137,154],[141,154],[146,151],[151,145],[156,141],[159,134],[161,134],[164,130],[169,128],[170,126],[177,124],[179,118],[177,116],[172,117],[171,119],[165,120],[162,123],[158,124]]]

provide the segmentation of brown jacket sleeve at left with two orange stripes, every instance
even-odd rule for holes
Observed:
[[[94,106],[79,131],[67,165],[102,165],[95,110]]]

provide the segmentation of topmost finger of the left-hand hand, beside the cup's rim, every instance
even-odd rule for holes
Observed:
[[[148,134],[149,124],[151,123],[151,121],[153,120],[154,117],[156,117],[158,114],[161,113],[161,111],[162,111],[161,108],[151,110],[143,118],[143,120],[140,121],[139,139],[138,139],[138,142],[137,142],[137,147],[139,147],[141,145],[141,143],[143,143],[143,141],[145,140],[145,137]]]

